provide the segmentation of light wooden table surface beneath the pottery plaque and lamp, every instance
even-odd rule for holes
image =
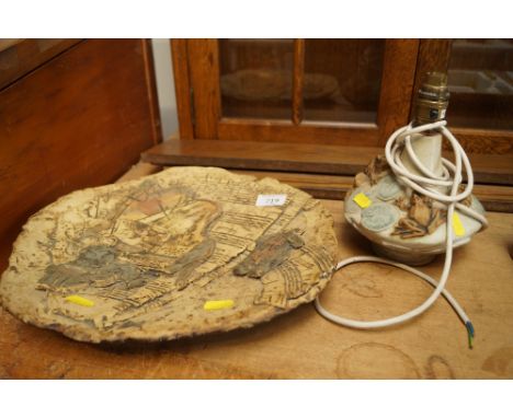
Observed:
[[[372,254],[333,213],[340,257]],[[448,289],[476,328],[444,299],[392,328],[355,330],[321,317],[312,304],[251,329],[161,344],[92,345],[23,324],[0,309],[0,378],[4,379],[504,379],[513,378],[513,214],[489,213],[491,227],[455,251]],[[423,270],[438,277],[443,256]],[[397,315],[432,288],[388,266],[360,264],[337,272],[324,306],[354,318]]]

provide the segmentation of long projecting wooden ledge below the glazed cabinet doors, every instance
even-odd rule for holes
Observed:
[[[145,151],[142,160],[159,165],[214,165],[241,170],[353,175],[383,152],[381,148],[374,147],[172,139]],[[451,153],[444,155],[452,158]],[[512,154],[471,154],[469,159],[476,182],[513,185]]]

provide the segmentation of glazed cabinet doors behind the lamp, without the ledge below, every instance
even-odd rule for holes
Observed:
[[[422,74],[438,70],[458,138],[475,152],[513,150],[511,40],[178,39],[172,49],[182,139],[380,147],[408,123]]]

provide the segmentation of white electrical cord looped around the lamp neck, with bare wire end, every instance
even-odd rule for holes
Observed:
[[[403,270],[410,271],[413,275],[419,276],[420,278],[428,281],[431,286],[433,286],[435,290],[421,305],[411,310],[410,312],[407,312],[402,315],[394,316],[387,320],[379,320],[379,321],[355,321],[355,320],[350,320],[350,318],[334,315],[328,312],[324,307],[322,307],[319,297],[318,297],[315,301],[316,309],[326,318],[337,324],[349,326],[352,328],[365,328],[365,329],[381,328],[386,326],[401,324],[403,322],[407,322],[422,314],[436,301],[436,299],[441,294],[443,294],[444,298],[454,307],[456,313],[459,315],[465,326],[467,327],[469,346],[471,348],[471,342],[474,338],[472,324],[470,320],[468,318],[467,314],[465,313],[465,311],[463,310],[463,307],[456,302],[456,300],[451,295],[451,293],[444,289],[445,283],[447,282],[447,278],[451,271],[451,264],[453,260],[453,213],[454,213],[454,209],[456,207],[458,208],[459,211],[464,212],[465,214],[475,218],[477,221],[481,223],[483,228],[488,227],[488,221],[481,213],[477,212],[474,209],[466,207],[465,205],[459,204],[461,200],[467,198],[472,191],[474,174],[472,174],[472,169],[470,166],[470,162],[467,158],[467,154],[465,153],[464,149],[461,148],[459,142],[456,140],[456,138],[453,136],[453,133],[445,127],[445,125],[446,125],[445,120],[436,121],[434,124],[421,125],[414,128],[410,124],[408,126],[404,126],[396,130],[390,136],[385,147],[385,156],[387,159],[388,165],[394,171],[394,173],[396,174],[397,178],[400,182],[411,187],[418,194],[428,196],[447,206],[445,263],[444,263],[444,268],[443,268],[440,281],[434,280],[432,277],[410,266],[407,266],[401,263],[390,262],[388,259],[379,258],[379,257],[371,257],[371,256],[351,257],[351,258],[346,258],[340,262],[334,268],[334,270],[339,270],[340,268],[347,266],[349,264],[362,263],[362,262],[386,264],[389,266],[402,268]],[[423,132],[426,130],[440,130],[442,135],[448,139],[448,141],[451,142],[451,146],[453,147],[455,164],[453,164],[451,161],[446,159],[442,159],[442,167],[443,167],[442,176],[436,176],[434,173],[429,171],[417,158],[415,152],[413,148],[411,147],[411,135]],[[407,150],[407,153],[410,156],[410,160],[413,162],[417,169],[423,174],[423,176],[411,173],[402,164],[401,159],[400,159],[400,153],[402,149]],[[458,193],[458,187],[463,181],[461,163],[465,166],[465,172],[467,173],[467,185],[461,193]],[[446,195],[440,191],[440,186],[449,187],[451,188],[449,194]]]

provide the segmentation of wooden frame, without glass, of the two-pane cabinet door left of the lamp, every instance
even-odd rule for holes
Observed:
[[[171,49],[181,139],[380,147],[409,121],[419,39],[386,39],[375,124],[300,120],[304,39],[294,43],[290,120],[223,117],[218,39],[173,39]]]

